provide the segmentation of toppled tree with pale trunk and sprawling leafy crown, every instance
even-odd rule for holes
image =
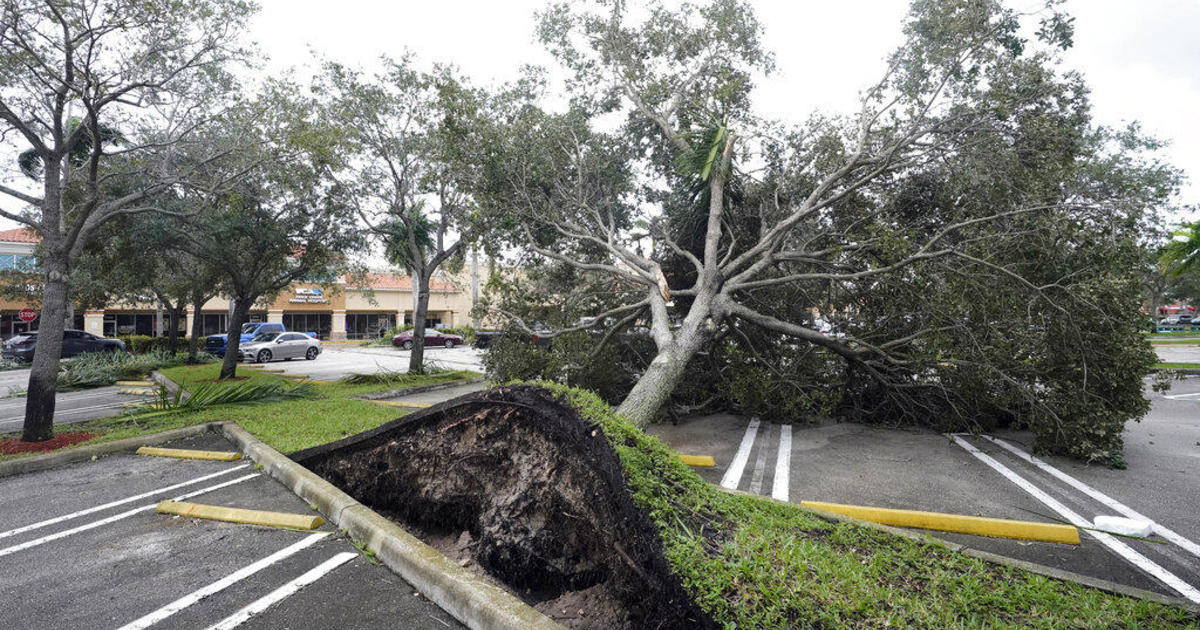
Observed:
[[[797,358],[835,358],[826,410],[1016,422],[1039,450],[1116,463],[1153,361],[1130,269],[1178,173],[1136,128],[1092,124],[1082,78],[1055,67],[1056,6],[918,0],[862,109],[794,128],[751,110],[772,61],[744,4],[547,11],[575,107],[512,116],[490,202],[522,217],[530,275],[563,282],[496,311],[533,332],[557,305],[576,317],[539,336],[601,346],[644,330],[655,350],[619,404],[640,426],[731,365],[812,398],[827,371]],[[613,112],[628,122],[598,131]]]

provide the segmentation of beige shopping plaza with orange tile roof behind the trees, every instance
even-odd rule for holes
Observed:
[[[30,268],[38,236],[25,228],[0,232],[0,269]],[[356,282],[340,280],[332,288],[296,283],[284,289],[270,304],[259,304],[250,312],[250,322],[281,322],[288,330],[316,332],[322,340],[361,340],[379,337],[396,325],[413,322],[412,278],[388,272],[368,274]],[[428,328],[454,328],[470,323],[470,283],[444,276],[430,281]],[[37,329],[37,319],[22,322],[23,308],[37,310],[36,304],[0,299],[0,337]],[[214,298],[200,312],[187,308],[179,323],[181,335],[190,335],[193,318],[199,317],[204,335],[228,330],[229,301]],[[103,310],[74,314],[73,326],[95,335],[163,334],[167,313],[152,301],[143,304],[112,304]]]

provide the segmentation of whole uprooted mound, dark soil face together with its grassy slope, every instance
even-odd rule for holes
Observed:
[[[1196,620],[727,494],[595,395],[559,385],[472,394],[292,457],[569,628]]]

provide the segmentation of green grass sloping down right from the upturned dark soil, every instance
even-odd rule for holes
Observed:
[[[720,492],[595,395],[546,386],[602,428],[635,503],[661,533],[673,570],[722,628],[1195,628],[1200,622],[1181,608],[830,523],[797,505]]]

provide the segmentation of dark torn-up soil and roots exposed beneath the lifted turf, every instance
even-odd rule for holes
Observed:
[[[714,626],[600,428],[545,389],[469,394],[293,458],[569,628]]]

